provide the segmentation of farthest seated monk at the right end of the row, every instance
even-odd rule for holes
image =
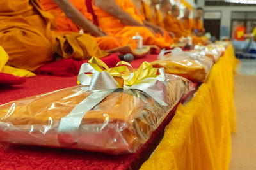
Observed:
[[[203,12],[203,8],[198,7],[196,9],[196,15],[193,20],[193,31],[195,32],[196,36],[202,36],[205,33],[204,24],[201,20]]]

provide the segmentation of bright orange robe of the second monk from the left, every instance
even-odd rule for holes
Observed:
[[[70,0],[73,6],[79,10],[85,18],[93,22],[93,17],[87,11],[87,6],[84,0]],[[79,32],[79,27],[67,18],[61,8],[54,3],[53,0],[40,0],[45,11],[49,11],[54,15],[57,28],[56,32]],[[119,48],[120,46],[131,45],[132,49],[137,48],[136,41],[132,41],[130,38],[115,38],[113,36],[95,37],[101,50],[111,50]]]

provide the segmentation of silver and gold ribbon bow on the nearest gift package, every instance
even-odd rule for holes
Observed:
[[[123,61],[109,69],[102,60],[92,57],[88,63],[81,66],[77,81],[92,94],[79,103],[66,117],[61,118],[59,132],[72,134],[79,129],[87,111],[118,88],[141,90],[157,103],[167,106],[164,69],[153,68],[148,62],[143,62],[137,70],[134,70],[128,62]]]

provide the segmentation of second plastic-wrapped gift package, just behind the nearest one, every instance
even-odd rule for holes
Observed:
[[[194,82],[204,82],[207,79],[214,61],[198,52],[183,52],[175,48],[172,53],[159,54],[158,60],[151,62],[154,67],[164,67],[166,73],[183,76]]]

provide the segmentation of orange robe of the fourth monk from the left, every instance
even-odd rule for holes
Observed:
[[[145,18],[145,20],[147,20],[148,22],[150,22],[153,25],[164,28],[162,14],[160,13],[159,10],[156,9],[156,7],[154,7],[154,11],[155,11],[155,13],[154,13],[154,15],[152,15],[150,6],[148,6],[148,4],[146,4],[144,1],[141,1],[140,13]]]

